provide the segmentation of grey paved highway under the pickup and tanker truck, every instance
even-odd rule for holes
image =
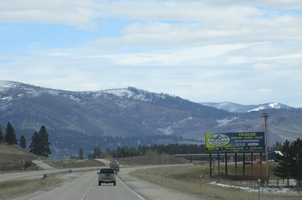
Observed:
[[[96,172],[98,172],[98,167],[98,169],[93,171],[84,172],[83,175],[78,179],[75,179],[72,182],[69,182],[58,188],[54,188],[46,192],[40,191],[40,193],[37,195],[31,194],[19,196],[13,200],[200,199],[200,196],[198,195],[187,194],[173,188],[162,187],[161,185],[153,184],[130,176],[128,172],[135,170],[135,168],[137,167],[121,168],[117,175],[115,186],[112,183],[102,183],[100,186],[97,184]]]

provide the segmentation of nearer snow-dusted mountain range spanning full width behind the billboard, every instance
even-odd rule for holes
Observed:
[[[255,109],[255,108],[252,108]],[[249,110],[247,110],[249,111]],[[66,91],[0,81],[0,125],[15,128],[27,144],[41,125],[49,133],[53,156],[83,147],[202,142],[205,132],[263,131],[269,113],[269,143],[301,136],[302,109],[230,112],[178,96],[134,87]]]

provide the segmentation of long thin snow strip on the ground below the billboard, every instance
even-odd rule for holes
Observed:
[[[228,185],[228,184],[222,184],[217,182],[210,182],[208,184],[211,185],[217,185],[220,187],[232,187],[232,188],[238,188],[242,189],[248,192],[258,192],[258,187],[241,187],[241,186],[235,186],[235,185]],[[302,192],[298,191],[293,188],[287,188],[287,187],[260,187],[260,195],[261,193],[273,193],[273,194],[287,194],[287,195],[301,195]]]

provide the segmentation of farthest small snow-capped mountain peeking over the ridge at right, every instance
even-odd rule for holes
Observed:
[[[277,102],[270,102],[270,103],[263,103],[258,105],[242,105],[238,103],[232,103],[228,101],[215,103],[215,102],[202,102],[200,103],[202,105],[207,105],[211,107],[215,107],[218,109],[223,109],[229,112],[250,112],[250,111],[259,111],[262,109],[281,109],[286,108],[290,109],[293,107],[290,107],[288,105],[277,103]]]

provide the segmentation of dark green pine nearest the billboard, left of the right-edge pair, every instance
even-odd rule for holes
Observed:
[[[292,170],[294,170],[294,149],[293,146],[290,145],[290,142],[286,139],[280,151],[282,155],[276,154],[279,164],[276,166],[273,173],[280,178],[286,178],[287,185],[289,185],[289,178],[291,177]]]

